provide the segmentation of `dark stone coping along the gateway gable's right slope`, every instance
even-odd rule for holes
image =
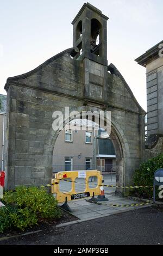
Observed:
[[[126,86],[126,89],[128,90],[129,94],[133,98],[136,106],[140,109],[141,114],[146,115],[147,114],[146,111],[137,102],[133,92],[131,91],[130,87],[128,86],[128,83],[126,82],[126,80],[124,80],[124,77],[121,75],[120,71],[116,68],[116,66],[114,64],[110,63],[110,65],[108,66],[108,71],[110,71],[110,73],[112,75],[116,75],[121,78],[122,82],[124,83],[124,86]]]

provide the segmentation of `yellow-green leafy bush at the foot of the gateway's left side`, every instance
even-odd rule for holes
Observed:
[[[57,200],[44,188],[19,186],[15,191],[4,193],[0,208],[0,231],[10,227],[21,230],[37,224],[39,220],[61,217]]]

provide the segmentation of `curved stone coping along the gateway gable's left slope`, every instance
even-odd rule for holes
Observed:
[[[33,75],[36,71],[40,70],[43,66],[53,62],[55,59],[58,59],[58,58],[64,56],[66,53],[70,53],[70,54],[72,53],[72,55],[73,55],[74,52],[78,52],[78,51],[79,51],[78,48],[73,48],[73,47],[72,48],[68,48],[68,49],[66,49],[66,50],[56,54],[55,56],[49,58],[48,60],[43,62],[41,65],[37,66],[37,68],[35,68],[35,69],[31,70],[31,71],[28,71],[27,73],[24,73],[24,74],[18,75],[18,76],[8,77],[7,82],[5,83],[4,89],[6,91],[8,91],[9,84],[10,84],[11,81],[14,81],[14,80],[17,80],[17,79],[20,79],[20,78],[27,78],[27,77]]]

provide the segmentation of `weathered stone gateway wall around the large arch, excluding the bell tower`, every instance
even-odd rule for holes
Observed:
[[[111,111],[111,139],[117,155],[117,184],[131,184],[143,160],[144,116],[124,78],[108,73],[107,102],[84,95],[83,61],[68,49],[27,74],[8,78],[7,180],[17,185],[40,186],[51,182],[52,155],[59,131],[52,129],[54,111]]]

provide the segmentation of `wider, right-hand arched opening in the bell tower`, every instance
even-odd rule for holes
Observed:
[[[102,25],[96,20],[91,20],[91,52],[101,56],[102,49]]]

